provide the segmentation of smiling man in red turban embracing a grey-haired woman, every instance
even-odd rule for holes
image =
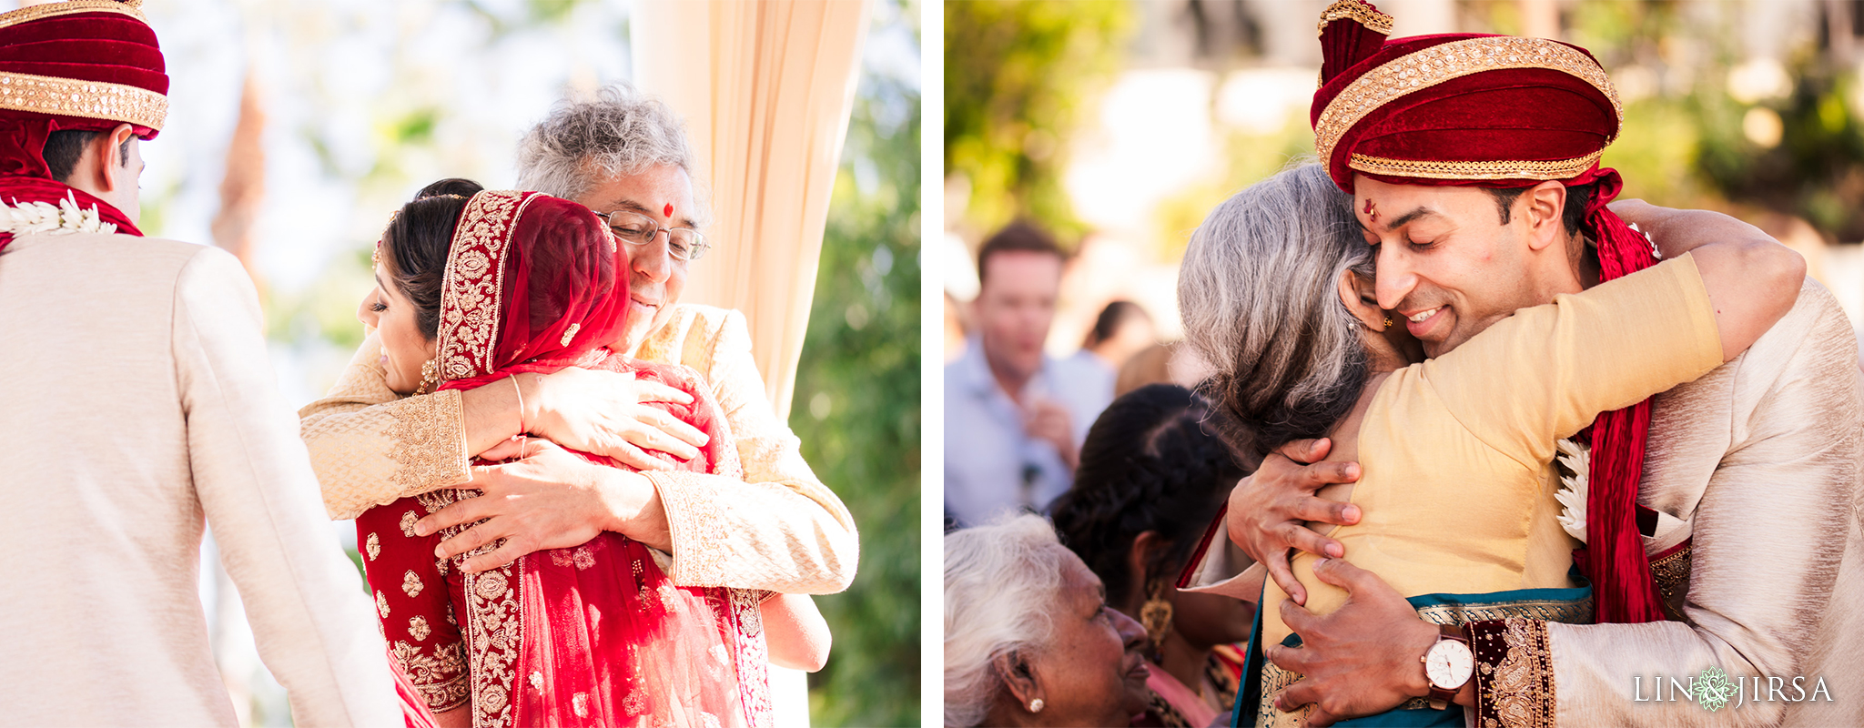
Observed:
[[[1366,240],[1379,246],[1379,307],[1402,315],[1428,356],[1515,309],[1657,263],[1652,240],[1612,207],[1655,209],[1607,207],[1622,182],[1599,156],[1624,110],[1590,52],[1506,35],[1387,39],[1391,26],[1363,0],[1325,9],[1310,117],[1322,164],[1353,194]],[[1536,246],[1510,231],[1530,220],[1558,233]],[[1351,590],[1348,607],[1288,618],[1303,646],[1271,646],[1268,657],[1305,678],[1262,698],[1279,709],[1316,704],[1316,724],[1446,691],[1474,708],[1480,726],[1659,726],[1707,713],[1687,696],[1652,702],[1646,689],[1640,698],[1637,678],[1648,687],[1659,674],[1702,674],[1707,683],[1713,668],[1730,685],[1748,680],[1748,702],[1730,702],[1739,721],[1864,722],[1855,698],[1864,668],[1847,659],[1864,650],[1864,579],[1847,577],[1864,568],[1855,367],[1849,320],[1806,279],[1793,311],[1747,354],[1590,428],[1586,544],[1575,562],[1594,586],[1597,624],[1471,614],[1460,639],[1476,665],[1467,681],[1439,685],[1419,661],[1435,654],[1437,627],[1420,626],[1346,553],[1316,575]],[[1346,523],[1338,505],[1301,495],[1350,480],[1338,465],[1269,458],[1232,506],[1266,512],[1260,523]],[[1275,551],[1260,534],[1232,538],[1253,542],[1245,549],[1256,557]],[[1327,546],[1336,542],[1316,544]],[[1799,700],[1791,689],[1786,700],[1756,694],[1769,678],[1795,676],[1806,676]]]

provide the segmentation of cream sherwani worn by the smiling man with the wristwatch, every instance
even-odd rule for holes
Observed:
[[[1864,533],[1858,527],[1864,415],[1857,339],[1812,279],[1793,309],[1737,359],[1652,402],[1638,503],[1661,512],[1646,540],[1659,586],[1683,622],[1523,624],[1523,721],[1562,726],[1864,724]],[[1514,620],[1510,620],[1514,622]],[[1510,624],[1514,627],[1514,624]],[[1540,644],[1536,644],[1540,642]],[[1532,665],[1534,661],[1525,661]],[[1652,698],[1653,676],[1825,678],[1832,700],[1735,700],[1707,711]],[[1810,694],[1808,694],[1810,696]],[[1499,706],[1502,708],[1502,706]],[[1506,711],[1502,711],[1508,715]]]

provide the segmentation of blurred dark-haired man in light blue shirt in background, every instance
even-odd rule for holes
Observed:
[[[1061,268],[1061,248],[1027,223],[977,253],[979,333],[945,367],[945,516],[960,527],[1044,510],[1066,492],[1105,406],[1081,363],[1042,354]]]

